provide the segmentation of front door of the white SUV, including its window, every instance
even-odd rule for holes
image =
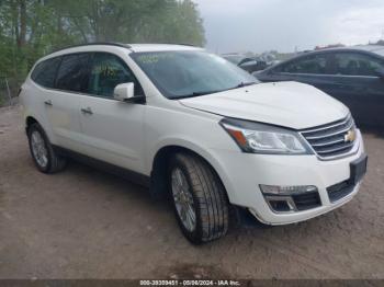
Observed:
[[[134,82],[144,94],[125,61],[109,53],[94,53],[90,65],[88,95],[79,102],[83,150],[92,158],[143,171],[143,117],[146,105],[113,99],[120,83]]]

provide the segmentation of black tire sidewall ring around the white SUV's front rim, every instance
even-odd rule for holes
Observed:
[[[190,192],[192,194],[192,198],[193,198],[193,206],[194,206],[194,211],[195,211],[195,216],[196,216],[196,226],[195,226],[195,229],[193,231],[189,231],[180,216],[179,216],[179,213],[176,208],[176,204],[174,204],[174,198],[173,198],[173,193],[172,193],[172,184],[171,184],[171,181],[172,181],[172,170],[176,169],[176,168],[179,168],[182,173],[184,174],[185,179],[187,179],[187,182],[188,182],[188,185],[189,185],[189,188],[190,188]],[[191,176],[190,176],[190,173],[188,171],[188,168],[185,167],[184,162],[182,162],[181,160],[179,160],[177,157],[173,157],[170,161],[170,164],[169,164],[169,170],[168,170],[168,186],[169,186],[169,196],[171,197],[171,202],[172,202],[172,208],[173,208],[173,213],[174,213],[174,216],[177,218],[177,221],[178,221],[178,225],[182,231],[182,233],[185,236],[185,238],[191,241],[192,243],[194,244],[201,244],[203,243],[202,242],[202,232],[203,232],[203,229],[202,229],[202,220],[201,220],[201,211],[200,211],[200,202],[195,195],[195,192],[193,190],[193,185],[192,185],[192,181],[191,181]]]

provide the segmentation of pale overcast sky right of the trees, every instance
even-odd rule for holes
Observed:
[[[193,0],[215,53],[294,51],[384,39],[384,0]]]

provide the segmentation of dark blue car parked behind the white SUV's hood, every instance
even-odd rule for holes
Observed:
[[[359,125],[384,127],[384,46],[310,51],[253,76],[312,84],[346,104]]]

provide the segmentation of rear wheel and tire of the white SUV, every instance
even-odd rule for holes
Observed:
[[[32,159],[41,172],[56,173],[64,170],[67,160],[57,154],[39,124],[29,127],[27,137]]]

